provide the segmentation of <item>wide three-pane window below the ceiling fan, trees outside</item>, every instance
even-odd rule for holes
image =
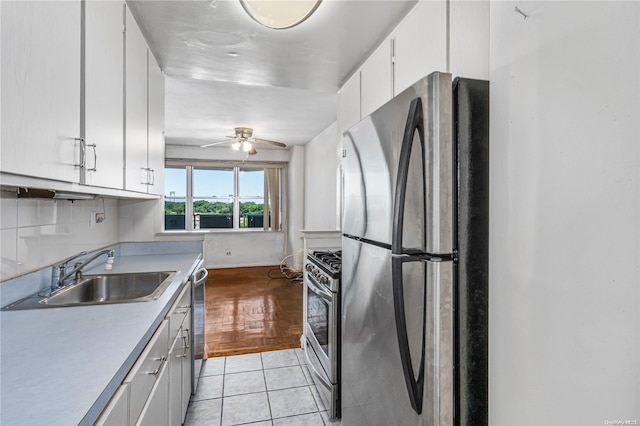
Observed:
[[[165,230],[263,229],[279,231],[282,165],[168,162]]]

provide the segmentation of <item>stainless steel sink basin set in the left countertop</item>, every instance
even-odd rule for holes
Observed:
[[[148,302],[162,296],[174,275],[175,272],[87,275],[49,296],[31,296],[3,310]]]

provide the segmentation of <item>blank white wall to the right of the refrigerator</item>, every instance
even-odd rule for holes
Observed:
[[[489,423],[640,421],[640,3],[490,20]]]

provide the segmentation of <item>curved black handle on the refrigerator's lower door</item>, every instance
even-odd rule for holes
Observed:
[[[402,266],[405,262],[422,262],[420,257],[411,256],[393,256],[391,259],[392,282],[393,282],[393,311],[395,316],[396,331],[398,336],[398,347],[400,350],[400,360],[402,361],[402,371],[404,373],[407,392],[411,407],[416,413],[422,414],[422,401],[424,398],[424,381],[425,381],[425,339],[426,339],[426,289],[425,299],[422,301],[422,341],[420,347],[420,369],[418,377],[415,377],[413,370],[413,362],[411,361],[411,350],[409,349],[409,337],[407,335],[407,318],[404,306],[404,280],[402,275]]]

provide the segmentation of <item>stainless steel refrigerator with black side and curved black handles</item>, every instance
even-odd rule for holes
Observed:
[[[345,426],[488,422],[488,130],[432,73],[343,135]]]

